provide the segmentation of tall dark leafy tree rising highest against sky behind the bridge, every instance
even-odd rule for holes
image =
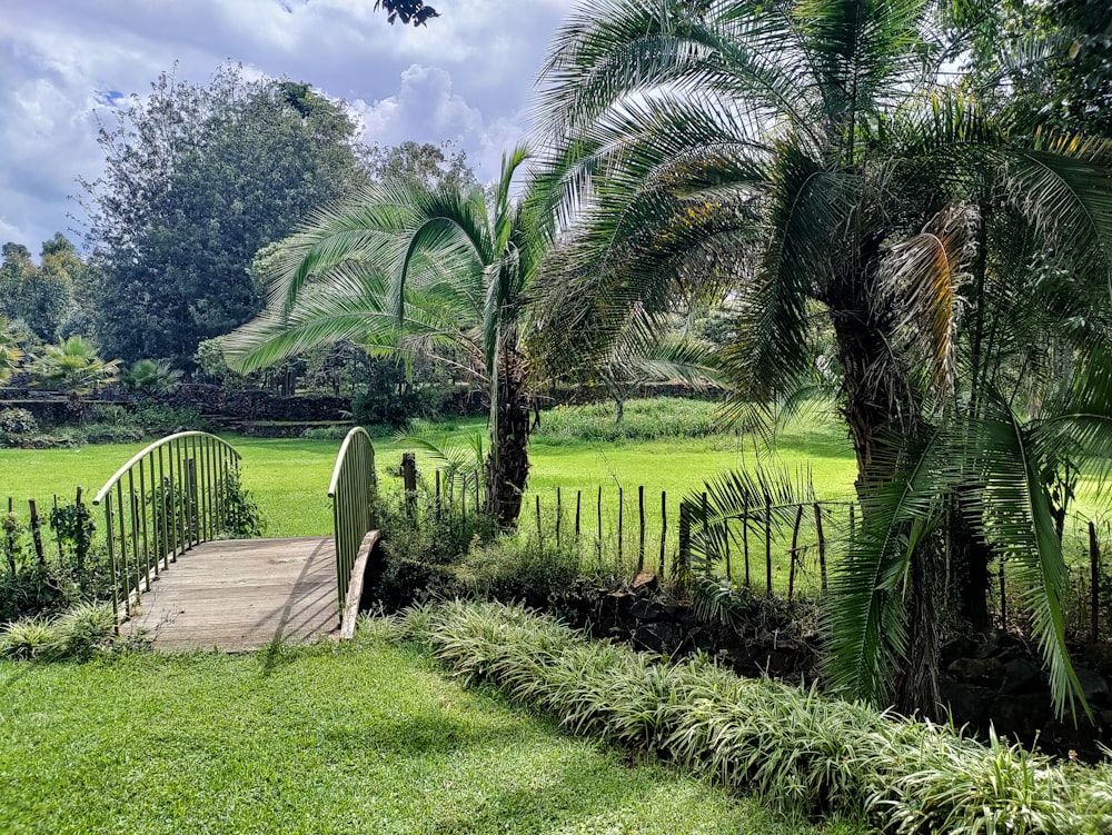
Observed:
[[[208,87],[163,73],[132,97],[101,128],[106,173],[83,183],[106,350],[186,366],[201,340],[258,314],[251,258],[360,180],[354,132],[308,85],[231,66]]]

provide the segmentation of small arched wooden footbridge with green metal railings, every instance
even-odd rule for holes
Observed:
[[[375,449],[356,428],[328,488],[332,536],[222,539],[241,521],[239,454],[207,433],[151,444],[95,500],[120,630],[159,649],[226,652],[350,637],[378,546],[375,493]]]

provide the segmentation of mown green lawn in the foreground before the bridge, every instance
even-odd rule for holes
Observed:
[[[6,835],[833,831],[629,767],[367,639],[0,663],[0,704]]]

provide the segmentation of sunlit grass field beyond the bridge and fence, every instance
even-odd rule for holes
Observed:
[[[484,431],[481,420],[457,424],[454,435]],[[244,485],[251,490],[269,523],[272,536],[324,535],[331,530],[327,490],[340,443],[336,440],[260,439],[228,436],[242,455]],[[108,444],[80,449],[0,449],[0,499],[13,497],[26,508],[28,498],[46,507],[51,497],[72,498],[77,485],[86,497],[100,488],[112,474],[139,451],[142,444]],[[398,483],[403,447],[393,437],[375,439],[379,479],[384,486]],[[646,495],[659,507],[661,490],[669,500],[697,486],[715,473],[744,467],[767,453],[755,448],[752,438],[722,435],[707,438],[675,438],[649,441],[568,441],[530,446],[533,469],[529,485],[547,504],[555,501],[559,486],[568,491],[594,493],[599,485],[607,497],[617,487],[626,489],[627,503],[644,485]],[[780,438],[772,458],[793,470],[811,468],[816,493],[827,498],[846,497],[854,478],[853,451],[836,424],[790,427]],[[430,467],[426,468],[430,471]],[[607,499],[609,503],[612,499]],[[649,504],[647,501],[647,504]]]

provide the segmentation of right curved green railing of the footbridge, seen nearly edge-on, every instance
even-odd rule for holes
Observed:
[[[375,445],[366,429],[356,427],[344,438],[328,486],[336,537],[336,587],[340,612],[347,604],[348,584],[359,545],[375,525]]]

